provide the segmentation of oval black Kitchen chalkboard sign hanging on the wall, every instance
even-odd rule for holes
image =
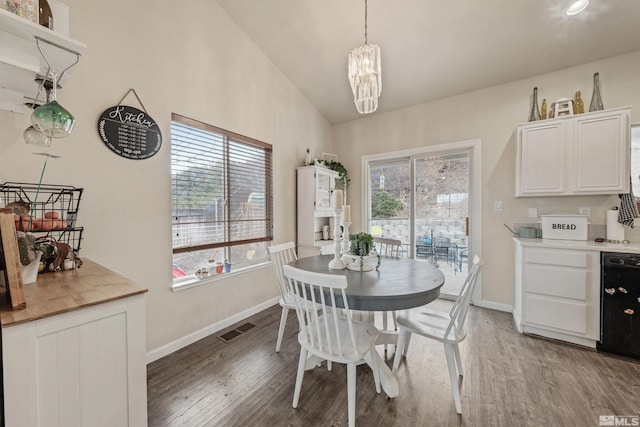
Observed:
[[[162,134],[155,120],[144,111],[126,105],[104,110],[98,119],[98,133],[111,151],[127,159],[148,159],[162,145]]]

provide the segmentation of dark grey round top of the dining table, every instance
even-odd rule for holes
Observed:
[[[333,255],[300,258],[289,265],[316,273],[347,277],[349,308],[393,311],[419,307],[438,298],[444,284],[440,270],[425,261],[382,258],[379,271],[332,270]]]

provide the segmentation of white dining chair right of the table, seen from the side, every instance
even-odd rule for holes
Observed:
[[[466,336],[464,323],[467,318],[467,311],[471,304],[471,296],[475,289],[478,273],[482,261],[478,255],[473,257],[473,265],[469,271],[460,294],[451,307],[451,310],[442,312],[428,307],[418,307],[398,313],[398,345],[393,359],[393,371],[398,369],[400,359],[407,355],[411,334],[422,335],[444,344],[444,354],[449,370],[451,381],[451,391],[456,406],[456,412],[462,414],[462,404],[460,402],[460,390],[458,379],[462,377],[462,360],[460,359],[460,349],[458,344]]]

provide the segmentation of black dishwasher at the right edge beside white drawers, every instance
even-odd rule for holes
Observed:
[[[602,253],[598,350],[640,359],[640,254]]]

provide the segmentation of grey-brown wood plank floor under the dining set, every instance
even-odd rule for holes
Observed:
[[[290,312],[276,353],[280,313],[274,306],[236,325],[256,326],[229,342],[222,331],[150,364],[149,426],[347,425],[344,365],[307,371],[299,406],[291,407],[297,320]],[[415,336],[397,373],[397,398],[376,394],[371,371],[358,367],[357,425],[598,426],[599,415],[640,415],[640,361],[518,334],[509,313],[471,307],[467,326],[463,415],[441,344]],[[392,358],[390,348],[387,363]]]

